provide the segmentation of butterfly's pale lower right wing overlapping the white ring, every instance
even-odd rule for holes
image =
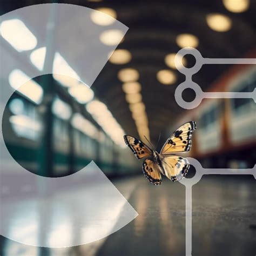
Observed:
[[[188,163],[186,158],[175,156],[174,154],[163,156],[161,163],[165,176],[172,181],[181,180],[185,177],[190,167],[190,163]]]

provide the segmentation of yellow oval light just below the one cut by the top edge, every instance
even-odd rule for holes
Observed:
[[[207,25],[215,31],[225,32],[231,29],[232,21],[222,14],[208,14],[206,16]]]

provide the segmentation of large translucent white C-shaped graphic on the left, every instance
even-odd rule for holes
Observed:
[[[65,75],[92,85],[128,29],[100,12],[98,16],[111,22],[107,28],[99,26],[93,23],[92,12],[98,11],[39,4],[1,16],[1,120],[15,89],[37,76],[53,73],[57,80],[61,77],[56,75]],[[31,90],[40,94],[42,89],[33,86]],[[29,92],[30,97],[36,95]],[[48,96],[44,99],[52,100]],[[6,238],[42,247],[82,245],[106,237],[138,215],[93,161],[70,176],[37,176],[12,158],[2,126],[0,153],[0,233]],[[81,186],[83,190],[78,189]],[[21,191],[6,196],[17,187],[26,191],[36,187],[37,192],[29,198]]]

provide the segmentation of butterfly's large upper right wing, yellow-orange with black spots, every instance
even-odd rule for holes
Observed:
[[[188,122],[184,125],[181,125],[167,139],[166,143],[161,149],[160,154],[190,151],[192,133],[194,130],[196,130],[196,128],[196,122]]]

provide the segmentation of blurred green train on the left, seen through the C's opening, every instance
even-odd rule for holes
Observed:
[[[24,120],[15,120],[14,117]],[[44,123],[39,121],[41,119],[40,106],[15,92],[6,104],[2,121],[4,142],[11,156],[26,170],[36,174],[40,174],[38,160],[44,130]],[[41,125],[40,129],[36,129],[36,121]],[[70,125],[70,120],[53,114],[52,171],[43,176],[67,176],[83,169],[91,161],[110,178],[136,172],[137,162],[127,147],[116,145],[99,126],[97,132],[97,137],[92,138]]]

